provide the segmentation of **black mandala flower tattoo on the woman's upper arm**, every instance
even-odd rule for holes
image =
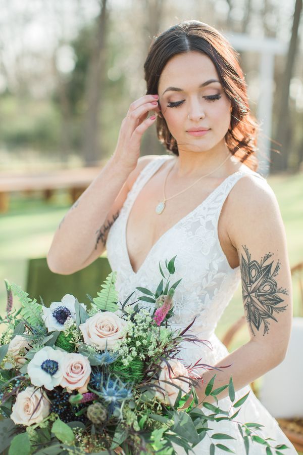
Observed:
[[[274,313],[283,312],[288,306],[278,306],[284,301],[278,294],[288,295],[288,291],[277,288],[277,282],[274,280],[278,275],[280,262],[277,262],[274,271],[272,271],[274,261],[265,264],[272,253],[267,253],[258,262],[250,259],[250,253],[245,245],[242,247],[246,253],[246,258],[241,255],[240,265],[245,316],[252,334],[256,336],[254,328],[259,331],[262,326],[264,336],[269,331],[270,321],[278,322]]]

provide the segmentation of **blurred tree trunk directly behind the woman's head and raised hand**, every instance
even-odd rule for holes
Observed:
[[[156,36],[161,27],[161,18],[163,17],[165,0],[144,0],[142,2],[146,22],[143,26],[143,55],[144,61],[148,54],[148,49],[150,44],[154,41],[154,36]],[[143,62],[144,63],[144,62]],[[148,116],[151,115],[148,114]],[[155,124],[147,129],[143,136],[143,148],[142,155],[158,155],[161,152],[161,144],[157,138],[156,126]]]

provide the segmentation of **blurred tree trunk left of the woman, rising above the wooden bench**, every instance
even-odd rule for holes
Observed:
[[[98,138],[102,135],[99,125],[100,91],[106,83],[106,33],[108,24],[107,0],[100,0],[100,12],[97,17],[96,33],[91,43],[90,61],[85,80],[82,152],[86,166],[97,164],[102,157],[102,148]]]

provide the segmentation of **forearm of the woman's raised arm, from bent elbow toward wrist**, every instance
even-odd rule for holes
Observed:
[[[102,254],[110,224],[119,215],[106,220],[107,214],[130,172],[113,158],[106,163],[61,221],[47,254],[51,270],[71,274],[82,268],[96,247]]]

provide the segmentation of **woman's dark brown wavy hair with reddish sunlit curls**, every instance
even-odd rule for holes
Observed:
[[[259,124],[250,114],[246,82],[238,62],[239,54],[214,27],[195,20],[183,21],[155,37],[144,63],[146,95],[158,93],[159,79],[168,61],[175,55],[190,51],[206,54],[214,63],[224,92],[232,105],[231,123],[225,134],[225,143],[232,155],[256,171]],[[178,156],[177,142],[162,116],[158,116],[156,127],[160,142]]]

